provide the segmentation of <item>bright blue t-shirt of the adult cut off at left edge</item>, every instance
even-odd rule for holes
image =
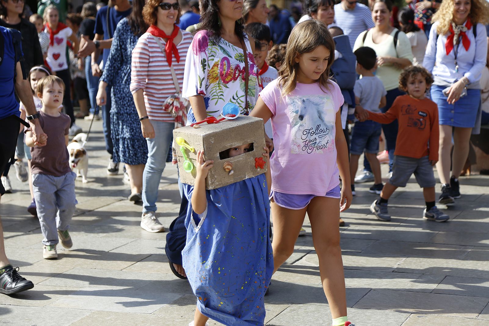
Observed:
[[[0,43],[3,43],[3,57],[0,62],[0,119],[6,118],[12,114],[21,116],[19,103],[15,99],[15,58],[14,44],[10,31],[0,26]],[[20,46],[20,44],[19,44]]]

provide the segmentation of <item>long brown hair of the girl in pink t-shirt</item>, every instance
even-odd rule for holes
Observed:
[[[321,21],[309,20],[295,25],[292,33],[290,33],[285,59],[278,72],[278,83],[282,96],[290,94],[297,85],[299,64],[295,62],[295,58],[303,53],[314,51],[319,45],[324,45],[330,50],[328,65],[318,80],[321,86],[328,87],[330,67],[334,61],[333,37],[326,24]]]

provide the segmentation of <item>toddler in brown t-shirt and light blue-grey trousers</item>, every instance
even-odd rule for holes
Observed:
[[[57,76],[49,75],[38,81],[37,96],[43,103],[39,123],[47,135],[47,144],[37,147],[31,130],[26,131],[25,138],[25,143],[31,147],[32,188],[44,236],[44,259],[58,258],[58,236],[63,247],[73,245],[68,228],[77,204],[76,174],[71,172],[68,162],[70,118],[58,109],[64,92],[65,84]]]

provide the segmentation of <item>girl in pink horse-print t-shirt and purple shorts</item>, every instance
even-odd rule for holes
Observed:
[[[274,271],[292,254],[308,213],[333,326],[352,326],[346,315],[338,227],[339,212],[350,207],[352,190],[339,112],[343,96],[328,78],[333,59],[333,38],[323,22],[297,24],[290,34],[279,78],[260,93],[250,115],[263,118],[265,123],[271,118],[272,123]]]

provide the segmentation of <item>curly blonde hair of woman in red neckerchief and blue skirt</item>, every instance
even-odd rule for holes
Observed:
[[[433,15],[433,22],[438,22],[437,33],[445,35],[450,30],[450,24],[453,20],[453,10],[455,9],[454,0],[443,0],[438,11]],[[489,23],[489,2],[486,0],[471,0],[470,13],[468,18],[472,25],[477,23],[484,25]]]

